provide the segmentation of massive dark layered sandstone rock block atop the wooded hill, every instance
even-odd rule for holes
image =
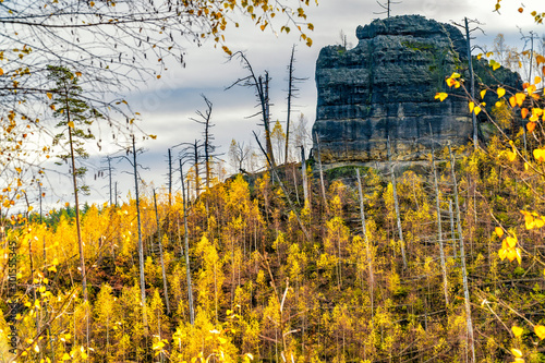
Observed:
[[[388,137],[398,160],[424,159],[431,130],[441,143],[470,141],[468,102],[434,99],[446,92],[445,77],[467,68],[458,28],[405,15],[359,26],[356,36],[355,48],[325,47],[316,63],[313,137],[319,137],[323,161],[385,160]]]

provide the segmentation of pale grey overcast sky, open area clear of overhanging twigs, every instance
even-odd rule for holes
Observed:
[[[502,0],[501,14],[498,14],[493,12],[496,0],[404,0],[391,5],[391,15],[420,14],[445,23],[461,23],[463,17],[468,16],[479,20],[482,23],[481,27],[486,32],[485,35],[476,34],[475,44],[489,47],[496,35],[504,33],[511,46],[522,48],[524,44],[520,40],[518,27],[526,34],[530,31],[540,36],[545,34],[544,25],[535,25],[530,15],[532,10],[545,11],[543,0],[523,2],[525,11],[520,14],[518,8],[521,7],[521,1]],[[256,73],[263,73],[265,70],[269,72],[272,77],[270,97],[275,105],[271,118],[280,121],[286,119],[287,65],[291,47],[295,44],[295,76],[308,80],[300,84],[300,98],[295,101],[299,106],[293,117],[302,112],[312,125],[316,108],[314,71],[320,48],[338,44],[341,31],[347,34],[348,41],[355,46],[356,26],[368,24],[373,19],[385,15],[377,14],[382,9],[375,0],[322,0],[318,5],[312,4],[306,11],[307,20],[315,26],[315,31],[310,34],[314,43],[311,48],[299,41],[295,32],[276,36],[270,28],[261,32],[244,21],[241,22],[240,28],[232,27],[228,32],[227,43],[233,51],[245,51]],[[276,20],[279,20],[279,16]],[[276,29],[281,25],[283,23],[277,22]],[[142,171],[143,179],[148,183],[153,182],[156,186],[166,184],[168,170],[166,155],[170,146],[201,137],[202,128],[190,120],[195,117],[195,110],[205,109],[201,94],[206,95],[214,104],[213,122],[216,124],[214,133],[220,152],[227,154],[232,138],[247,143],[252,131],[261,131],[256,125],[256,118],[247,119],[256,111],[253,90],[247,88],[225,90],[246,73],[239,62],[227,62],[223,51],[213,46],[213,41],[202,47],[187,45],[185,68],[172,62],[160,80],[142,84],[140,89],[134,89],[126,97],[133,110],[142,113],[142,129],[157,135],[157,140],[140,144],[146,149],[141,160],[149,168],[147,171]],[[106,146],[102,148],[102,155],[117,150],[114,146]],[[227,159],[227,155],[225,158]],[[98,157],[90,160],[95,168],[101,166],[98,160]],[[114,180],[120,181],[120,195],[126,199],[128,192],[133,191],[134,185],[121,171],[129,170],[130,166],[121,162],[117,168]],[[94,170],[90,169],[87,183],[92,186],[93,193],[87,201],[106,202],[108,191],[104,185],[107,185],[107,179],[94,181]],[[56,184],[63,183],[63,179],[68,177],[51,176]],[[66,189],[65,193],[59,190],[49,193],[48,204],[55,205],[57,201],[60,204],[70,202],[72,196],[69,190]]]

